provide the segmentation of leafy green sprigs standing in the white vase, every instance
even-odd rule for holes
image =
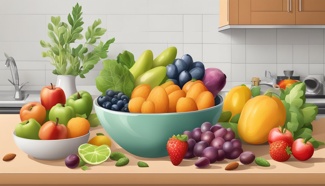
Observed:
[[[115,41],[115,38],[111,38],[105,43],[100,41],[98,45],[95,45],[97,39],[100,39],[100,36],[106,32],[106,29],[98,27],[101,24],[100,19],[95,20],[91,26],[88,26],[84,44],[79,44],[76,48],[70,47],[70,44],[74,43],[76,39],[84,38],[80,34],[83,31],[81,26],[84,24],[81,15],[81,6],[77,3],[75,7],[72,7],[72,15],[68,15],[69,25],[61,22],[60,16],[52,16],[51,23],[47,25],[47,35],[50,37],[52,44],[44,40],[41,40],[40,44],[42,47],[49,49],[42,52],[42,57],[51,58],[51,64],[55,66],[55,70],[52,71],[53,74],[79,75],[81,78],[85,78],[84,74],[93,69],[100,59],[107,58],[107,50],[110,44]],[[88,52],[88,45],[94,47],[90,52]]]

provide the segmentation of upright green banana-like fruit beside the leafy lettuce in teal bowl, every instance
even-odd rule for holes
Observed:
[[[141,74],[151,69],[153,54],[151,50],[144,51],[136,63],[130,68],[130,72],[134,79],[137,79]]]

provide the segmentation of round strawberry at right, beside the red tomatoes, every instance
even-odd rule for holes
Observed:
[[[285,162],[289,160],[290,154],[292,153],[289,144],[283,140],[279,140],[271,143],[270,145],[270,156],[277,162]]]

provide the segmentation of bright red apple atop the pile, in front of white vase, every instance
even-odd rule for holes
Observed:
[[[65,104],[65,94],[60,87],[51,86],[43,87],[41,91],[41,103],[46,110],[51,109],[58,103]]]

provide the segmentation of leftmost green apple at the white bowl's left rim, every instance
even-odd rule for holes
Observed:
[[[40,139],[38,133],[41,129],[41,125],[34,119],[23,121],[16,125],[16,136],[26,139]]]

